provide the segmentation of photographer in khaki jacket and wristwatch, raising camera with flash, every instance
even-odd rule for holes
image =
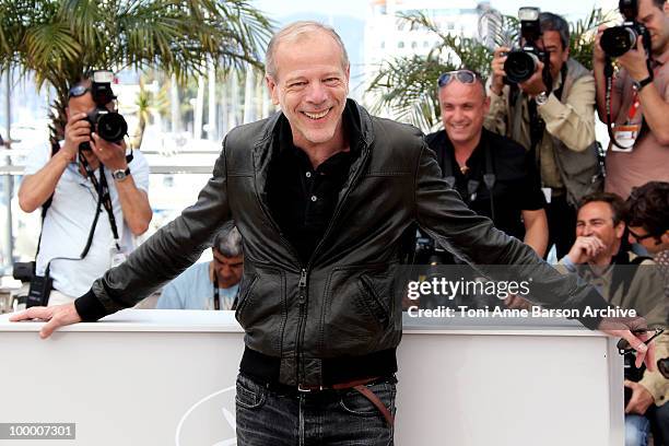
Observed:
[[[548,12],[537,15],[538,38],[524,39],[524,46],[548,55],[537,57],[529,79],[514,83],[505,82],[510,48],[495,50],[484,126],[520,143],[536,160],[548,201],[548,246],[555,244],[561,258],[574,243],[571,228],[576,223],[576,204],[600,188],[595,82],[587,69],[570,58],[566,21]],[[523,17],[521,23],[527,26]],[[549,62],[548,70],[542,59]]]

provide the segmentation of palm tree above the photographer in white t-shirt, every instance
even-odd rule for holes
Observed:
[[[68,85],[91,69],[156,68],[183,82],[207,60],[260,66],[271,28],[247,0],[0,0],[0,71],[15,66],[54,86],[55,144]]]

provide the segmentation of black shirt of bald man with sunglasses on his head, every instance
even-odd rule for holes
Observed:
[[[467,206],[476,213],[491,219],[494,209],[495,226],[523,239],[525,225],[521,211],[535,211],[545,206],[537,167],[527,151],[510,139],[483,129],[479,145],[467,160],[469,171],[462,174],[445,130],[431,133],[425,140],[436,152],[442,175],[455,177],[454,187]],[[488,154],[491,155],[490,163],[486,160]],[[489,164],[492,172],[486,172]],[[484,174],[495,175],[492,203]],[[479,181],[473,193],[468,190],[468,187],[474,186],[471,180]]]

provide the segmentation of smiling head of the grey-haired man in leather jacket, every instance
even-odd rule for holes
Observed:
[[[321,30],[281,40],[275,73],[266,77],[272,102],[291,124],[302,149],[343,141],[342,115],[349,94],[349,67],[332,36]]]

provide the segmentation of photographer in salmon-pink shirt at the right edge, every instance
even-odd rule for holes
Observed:
[[[635,45],[615,59],[621,70],[610,92],[611,120],[618,127],[613,128],[614,140],[622,148],[609,145],[606,189],[623,198],[633,187],[646,181],[669,181],[669,3],[665,0],[629,3],[632,11],[627,19],[632,20],[625,23],[636,30],[647,30],[649,48],[644,48],[643,36],[638,35]],[[606,124],[607,55],[601,45],[605,28],[600,26],[597,35],[592,67],[597,109]]]

